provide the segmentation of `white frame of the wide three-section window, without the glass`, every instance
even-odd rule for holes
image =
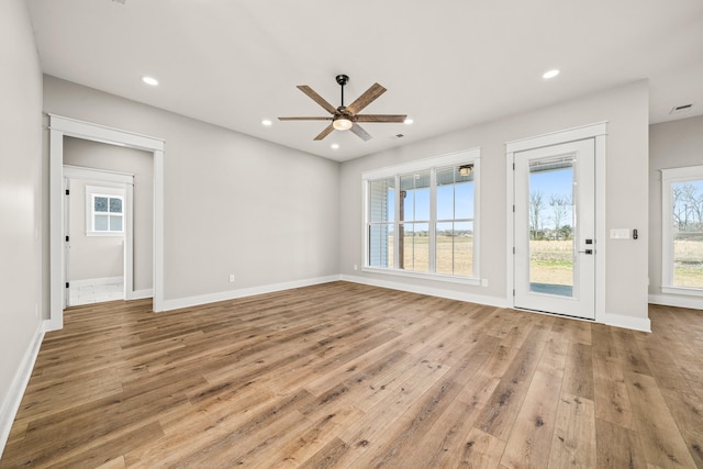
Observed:
[[[481,150],[480,148],[470,148],[465,149],[457,153],[451,153],[442,156],[435,156],[432,158],[419,159],[411,163],[405,163],[401,165],[388,166],[384,168],[379,168],[370,171],[365,171],[361,174],[361,183],[362,183],[362,197],[364,197],[364,220],[362,220],[362,239],[364,239],[364,260],[361,263],[361,271],[372,272],[372,273],[383,273],[390,276],[398,277],[411,277],[411,278],[421,278],[427,280],[438,280],[445,282],[453,283],[465,283],[479,286],[481,284],[480,280],[480,161],[481,161]],[[369,266],[369,237],[368,237],[368,225],[369,225],[369,209],[370,209],[370,200],[369,200],[369,186],[370,181],[382,178],[391,178],[391,177],[400,177],[401,175],[408,175],[410,172],[419,172],[431,170],[431,179],[432,185],[435,182],[435,170],[443,169],[448,166],[461,166],[461,165],[473,165],[473,272],[471,277],[464,276],[450,276],[443,273],[431,272],[419,272],[412,270],[402,270],[398,268],[386,268],[386,267],[371,267]],[[398,197],[395,197],[395,203],[398,205]],[[436,213],[435,210],[435,192],[431,192],[431,222],[429,226],[429,266],[431,270],[434,270],[435,265],[435,246],[434,246],[434,233],[436,230]],[[398,206],[395,208],[395,216],[398,217]],[[395,220],[395,226],[398,226],[398,220]],[[398,231],[395,232],[398,233]],[[395,259],[395,257],[394,257]],[[395,260],[397,261],[397,260]]]

